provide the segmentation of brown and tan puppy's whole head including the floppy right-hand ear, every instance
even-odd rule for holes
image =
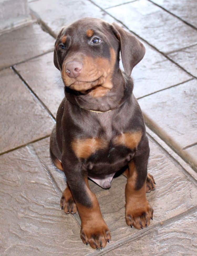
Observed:
[[[113,87],[113,73],[119,69],[119,52],[125,72],[143,58],[145,48],[137,38],[117,24],[82,18],[64,27],[55,42],[54,64],[65,86],[101,97]]]

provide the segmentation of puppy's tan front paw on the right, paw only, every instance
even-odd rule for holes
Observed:
[[[153,219],[153,209],[148,202],[135,207],[135,205],[126,205],[125,219],[128,226],[137,229],[147,228],[150,219]]]

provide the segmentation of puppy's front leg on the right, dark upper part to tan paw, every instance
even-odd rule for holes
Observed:
[[[148,138],[138,145],[136,156],[128,166],[125,188],[125,219],[129,226],[137,229],[148,227],[153,218],[153,209],[146,199],[147,163],[149,157]]]

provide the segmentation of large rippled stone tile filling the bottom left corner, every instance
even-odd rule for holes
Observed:
[[[60,197],[31,147],[0,157],[0,254],[85,255],[80,227],[62,213]],[[80,246],[78,246],[80,244]]]

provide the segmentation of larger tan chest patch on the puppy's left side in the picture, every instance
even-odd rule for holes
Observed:
[[[71,142],[72,150],[78,158],[87,159],[99,149],[107,147],[107,142],[99,138],[75,139]]]

